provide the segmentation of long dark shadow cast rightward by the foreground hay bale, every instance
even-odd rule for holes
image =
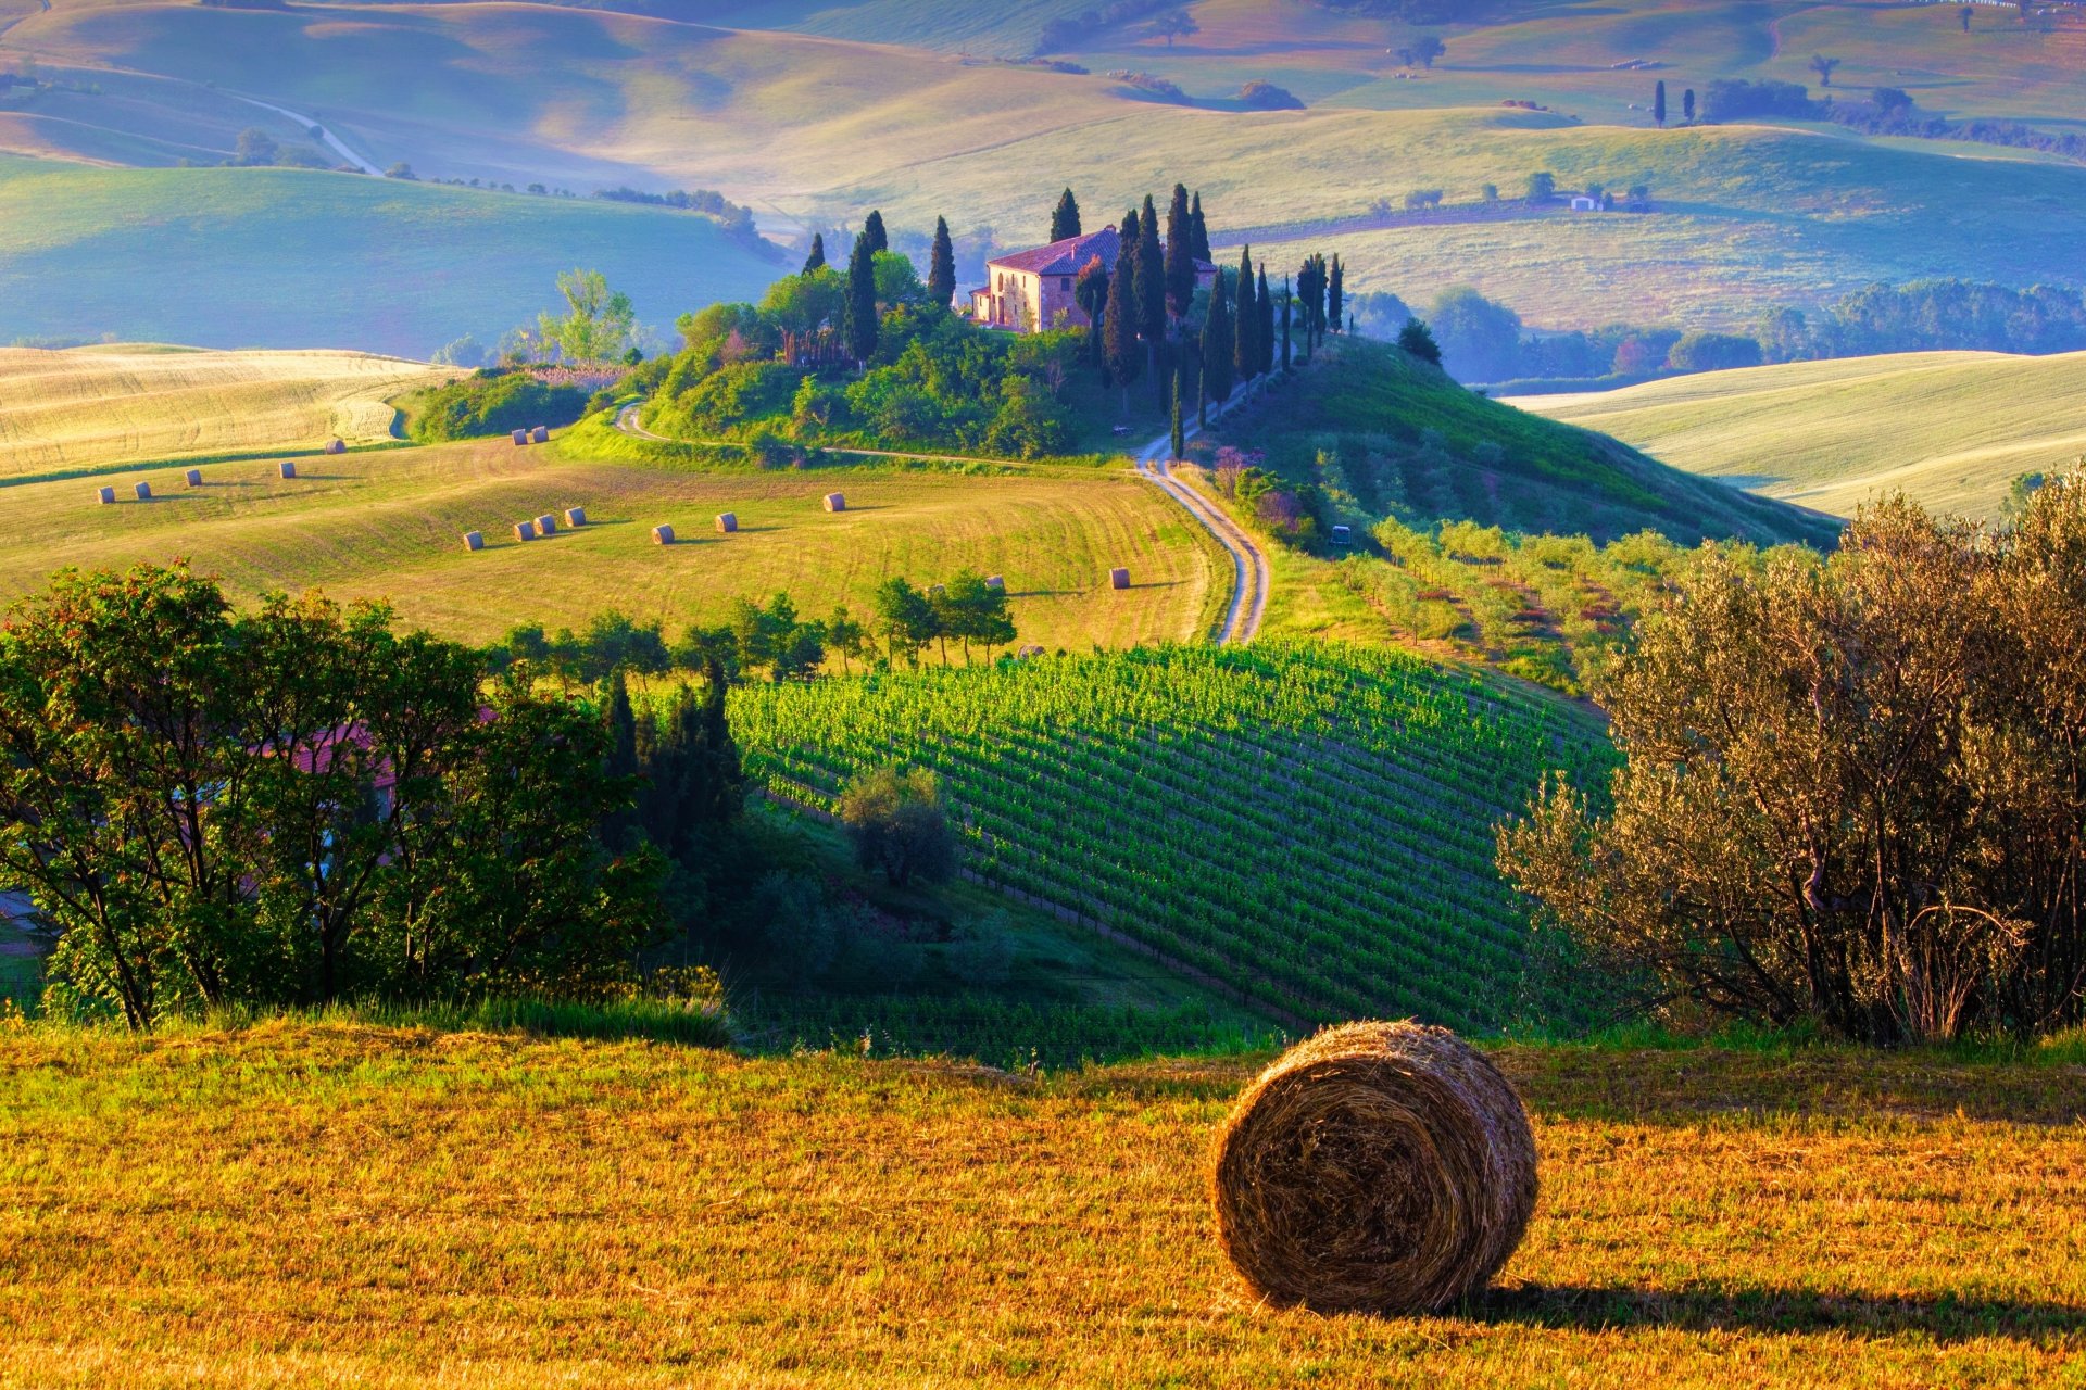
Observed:
[[[2051,1338],[2086,1332],[2086,1307],[1994,1298],[1834,1294],[1796,1288],[1642,1290],[1577,1284],[1496,1288],[1469,1309],[1487,1323],[1608,1332],[1846,1332],[1936,1342],[1978,1336]]]

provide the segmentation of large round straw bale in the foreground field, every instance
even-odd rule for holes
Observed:
[[[1210,1196],[1224,1255],[1266,1300],[1437,1313],[1521,1244],[1535,1136],[1512,1084],[1446,1027],[1345,1023],[1245,1088]]]

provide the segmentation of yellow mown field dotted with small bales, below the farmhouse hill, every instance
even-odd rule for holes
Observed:
[[[503,440],[302,458],[296,479],[273,461],[131,471],[0,492],[10,544],[0,594],[44,588],[60,565],[121,569],[188,559],[232,594],[321,588],[386,598],[417,625],[490,640],[515,623],[584,625],[620,609],[668,631],[718,621],[732,598],[789,592],[799,613],[866,613],[874,588],[960,569],[1005,575],[1022,642],[1193,640],[1229,598],[1231,567],[1185,511],[1120,469],[966,477],[897,469],[695,473],[565,456],[563,444]],[[131,486],[150,481],[150,502]],[[115,486],[115,506],[94,500]],[[847,511],[822,508],[828,492]],[[513,523],[586,508],[584,529],[522,544]],[[715,515],[738,517],[736,536]],[[657,546],[655,525],[678,540]],[[486,548],[465,552],[463,531]],[[1126,565],[1135,588],[1114,592]]]

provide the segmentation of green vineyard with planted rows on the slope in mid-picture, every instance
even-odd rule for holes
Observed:
[[[1525,913],[1494,825],[1610,756],[1564,704],[1325,644],[745,688],[732,723],[749,773],[814,809],[932,767],[970,873],[1295,1023],[1508,1021]]]

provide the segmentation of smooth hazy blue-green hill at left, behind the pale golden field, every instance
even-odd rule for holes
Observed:
[[[496,344],[574,265],[659,327],[778,273],[684,213],[286,169],[0,156],[0,342],[113,331],[423,356],[461,333]]]

